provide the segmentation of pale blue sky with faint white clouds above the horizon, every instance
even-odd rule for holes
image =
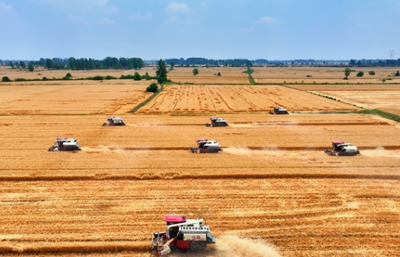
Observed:
[[[0,0],[0,59],[400,58],[400,0]]]

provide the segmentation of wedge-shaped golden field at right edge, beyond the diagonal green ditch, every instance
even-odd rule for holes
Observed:
[[[400,115],[400,85],[291,86],[332,96],[366,109],[380,109]]]

